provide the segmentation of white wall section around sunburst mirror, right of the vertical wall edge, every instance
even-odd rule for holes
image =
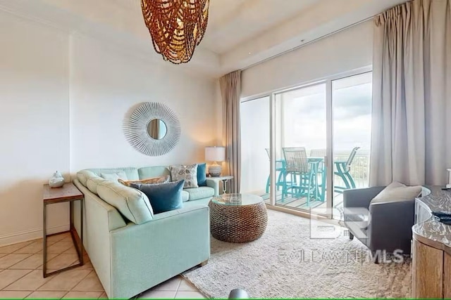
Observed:
[[[216,81],[149,65],[87,37],[75,36],[70,44],[72,172],[204,161],[204,145],[218,138]],[[125,139],[125,115],[142,102],[164,103],[179,117],[180,142],[166,155],[143,155]]]

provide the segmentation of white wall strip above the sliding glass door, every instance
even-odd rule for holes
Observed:
[[[373,21],[369,20],[244,70],[241,96],[366,67],[372,59]]]

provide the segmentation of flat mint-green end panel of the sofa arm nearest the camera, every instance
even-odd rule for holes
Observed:
[[[210,256],[209,207],[155,214],[147,223],[111,231],[111,298],[130,298]],[[144,279],[143,279],[144,275]]]

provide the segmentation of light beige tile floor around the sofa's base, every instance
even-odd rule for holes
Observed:
[[[47,238],[48,271],[78,263],[69,233]],[[85,253],[85,265],[43,278],[42,239],[0,247],[0,298],[89,298],[106,294]],[[205,298],[180,275],[143,292],[135,298]]]

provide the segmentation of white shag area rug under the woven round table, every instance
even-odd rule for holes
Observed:
[[[209,263],[183,276],[211,298],[226,298],[235,288],[252,298],[410,296],[410,259],[373,263],[367,248],[349,240],[343,228],[313,221],[322,226],[314,234],[340,235],[311,238],[310,222],[268,210],[268,227],[259,240],[233,244],[211,237]]]

